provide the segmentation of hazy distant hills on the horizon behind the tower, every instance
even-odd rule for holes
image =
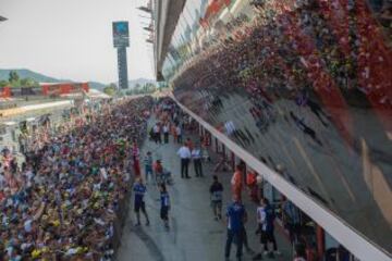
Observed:
[[[71,80],[71,79],[53,78],[53,77],[46,76],[40,73],[33,72],[27,69],[4,69],[4,70],[0,69],[0,80],[1,79],[8,80],[9,74],[11,71],[15,71],[21,78],[33,78],[39,83],[62,83],[62,82],[71,82],[72,83],[72,82],[75,82],[75,80]],[[90,88],[98,89],[98,90],[102,90],[106,86],[105,84],[97,83],[97,82],[88,82],[88,84],[89,84]]]

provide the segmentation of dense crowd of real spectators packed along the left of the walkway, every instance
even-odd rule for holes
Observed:
[[[111,260],[120,201],[133,172],[132,148],[147,133],[151,98],[39,129],[20,167],[0,167],[0,260]]]

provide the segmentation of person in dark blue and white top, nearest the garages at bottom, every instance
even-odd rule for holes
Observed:
[[[277,240],[274,237],[274,210],[270,206],[267,198],[260,200],[260,206],[257,208],[257,223],[259,225],[258,233],[260,234],[261,252],[254,257],[254,260],[261,260],[262,254],[273,258],[274,254],[281,254],[278,251]],[[273,251],[268,250],[268,244],[271,243]]]

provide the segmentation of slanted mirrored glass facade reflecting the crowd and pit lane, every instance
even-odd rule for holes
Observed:
[[[392,252],[390,1],[187,1],[180,101]],[[373,224],[377,224],[375,226]]]

